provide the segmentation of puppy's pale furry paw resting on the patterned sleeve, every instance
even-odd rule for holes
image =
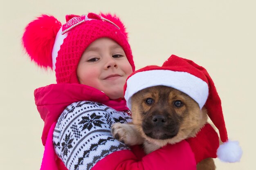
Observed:
[[[134,125],[115,123],[112,124],[111,129],[113,137],[126,145],[132,146],[141,143],[140,138],[137,138],[139,134]]]

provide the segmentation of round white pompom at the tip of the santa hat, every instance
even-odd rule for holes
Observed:
[[[238,141],[226,141],[217,150],[217,157],[224,162],[239,162],[242,154]]]

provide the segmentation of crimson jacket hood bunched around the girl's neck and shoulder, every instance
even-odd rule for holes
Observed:
[[[50,84],[34,91],[35,102],[40,117],[45,122],[42,142],[45,145],[52,124],[57,121],[63,110],[74,102],[100,102],[115,110],[128,110],[124,98],[111,100],[105,93],[83,84]]]

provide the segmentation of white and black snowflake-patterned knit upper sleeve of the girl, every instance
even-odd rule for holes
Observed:
[[[58,118],[53,133],[54,149],[69,170],[90,170],[107,155],[130,150],[112,137],[111,125],[132,118],[98,102],[75,102]]]

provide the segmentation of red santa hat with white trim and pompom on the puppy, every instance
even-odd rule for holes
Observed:
[[[138,91],[152,86],[169,86],[189,95],[198,103],[200,109],[207,109],[208,116],[218,128],[220,145],[217,156],[226,162],[239,161],[242,150],[238,141],[229,141],[222,114],[220,97],[213,80],[206,69],[191,60],[171,55],[160,66],[146,66],[130,75],[124,86],[124,97],[128,108],[131,108],[131,97]]]

